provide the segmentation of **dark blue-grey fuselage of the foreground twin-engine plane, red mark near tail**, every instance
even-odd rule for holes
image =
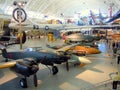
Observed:
[[[7,58],[18,60],[23,58],[33,58],[38,63],[43,63],[45,65],[52,65],[53,63],[61,64],[65,62],[64,56],[57,55],[52,52],[38,52],[38,51],[21,51],[21,52],[8,52]]]

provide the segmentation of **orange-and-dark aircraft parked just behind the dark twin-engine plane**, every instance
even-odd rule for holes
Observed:
[[[49,48],[56,49],[56,51],[62,51],[64,48],[64,52],[72,53],[77,56],[85,56],[86,54],[98,54],[101,51],[98,49],[98,46],[94,43],[77,43],[74,46],[65,48],[64,46],[50,46],[47,45]],[[62,48],[63,47],[63,48]],[[62,50],[60,49],[62,48]],[[81,61],[80,61],[81,62]],[[85,61],[83,62],[85,63]]]

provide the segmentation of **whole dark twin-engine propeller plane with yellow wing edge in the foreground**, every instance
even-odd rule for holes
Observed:
[[[0,63],[0,68],[11,68],[14,72],[23,75],[25,78],[20,80],[20,85],[23,88],[27,88],[27,77],[34,76],[34,85],[37,86],[37,76],[36,73],[39,70],[39,63],[46,66],[52,66],[53,75],[58,73],[58,68],[55,64],[61,64],[66,62],[66,69],[69,70],[69,59],[80,58],[74,56],[71,58],[70,53],[58,51],[48,52],[48,51],[18,51],[18,52],[7,52],[5,46],[0,45],[2,56],[6,58],[6,62]],[[12,61],[9,61],[11,59]],[[9,61],[9,62],[8,62]],[[84,60],[83,62],[90,63],[89,60]]]

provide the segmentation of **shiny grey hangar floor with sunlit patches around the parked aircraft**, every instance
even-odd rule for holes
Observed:
[[[62,42],[62,41],[61,41]],[[54,44],[61,44],[57,41]],[[43,47],[46,48],[46,40],[28,40],[23,48]],[[52,43],[50,43],[52,44]],[[23,89],[19,85],[22,77],[16,75],[9,69],[0,70],[0,90],[112,90],[111,73],[117,72],[120,66],[117,65],[117,58],[113,56],[112,50],[104,42],[99,42],[100,54],[86,55],[92,61],[91,64],[83,67],[70,65],[70,71],[66,71],[65,64],[57,65],[59,73],[55,76],[46,66],[39,64],[38,87],[33,86],[32,76],[28,78],[28,88]],[[10,46],[8,50],[19,50],[19,45]],[[0,56],[1,62],[4,60]],[[120,90],[118,87],[117,90]]]

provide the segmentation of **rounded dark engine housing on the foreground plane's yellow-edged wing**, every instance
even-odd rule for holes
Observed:
[[[30,75],[35,74],[39,70],[39,67],[35,60],[24,59],[22,61],[17,61],[17,64],[12,70],[23,76],[29,77]]]

